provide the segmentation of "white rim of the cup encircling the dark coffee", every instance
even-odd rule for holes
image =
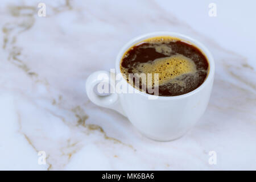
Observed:
[[[207,47],[204,46],[204,44],[200,43],[199,41],[187,36],[187,35],[183,35],[177,32],[168,32],[168,31],[158,31],[158,32],[150,32],[147,34],[143,34],[141,36],[137,36],[133,39],[131,39],[129,42],[127,42],[119,51],[116,61],[115,61],[115,70],[117,71],[117,73],[121,73],[120,70],[120,62],[122,60],[122,56],[125,53],[125,51],[127,51],[127,49],[129,49],[130,47],[134,46],[134,44],[137,44],[139,42],[141,42],[144,39],[148,39],[148,38],[154,38],[157,36],[172,36],[174,38],[179,38],[181,40],[184,40],[184,42],[190,43],[194,46],[196,46],[197,48],[200,49],[200,51],[202,53],[204,53],[204,55],[207,57],[208,63],[209,63],[209,73],[207,78],[205,78],[203,84],[201,84],[199,87],[197,87],[195,90],[192,90],[191,92],[179,95],[179,96],[157,96],[158,100],[176,100],[176,99],[180,99],[180,98],[184,98],[184,97],[188,97],[191,96],[197,92],[200,92],[200,90],[202,90],[207,84],[208,82],[213,78],[214,76],[214,70],[215,70],[215,64],[214,64],[214,59],[212,56],[212,53],[210,53],[209,49]],[[122,80],[126,82],[126,84],[129,86],[129,89],[135,89],[133,86],[131,86],[126,80],[125,78],[122,77]],[[133,93],[138,93],[141,94],[142,96],[146,96],[146,97],[152,97],[154,95],[148,94],[148,93],[144,93],[141,92],[141,90],[134,90]]]

